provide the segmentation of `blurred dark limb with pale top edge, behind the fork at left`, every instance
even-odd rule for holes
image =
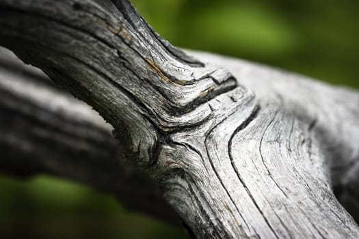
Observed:
[[[116,196],[125,206],[178,223],[158,186],[131,165],[109,124],[0,48],[0,171],[47,173]]]

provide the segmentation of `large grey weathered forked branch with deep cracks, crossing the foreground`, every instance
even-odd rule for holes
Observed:
[[[0,44],[101,113],[196,237],[359,238],[333,193],[358,185],[358,92],[198,61],[127,0],[0,0],[0,14]]]

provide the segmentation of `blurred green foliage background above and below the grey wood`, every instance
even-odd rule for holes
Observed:
[[[183,48],[258,61],[359,87],[359,1],[133,0]],[[187,238],[116,199],[65,180],[0,177],[2,238]]]

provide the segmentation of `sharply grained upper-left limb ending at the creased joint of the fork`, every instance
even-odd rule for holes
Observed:
[[[108,115],[130,138],[129,154],[148,166],[161,135],[199,124],[210,109],[191,109],[235,80],[174,51],[128,1],[114,2],[2,1],[1,44]]]

